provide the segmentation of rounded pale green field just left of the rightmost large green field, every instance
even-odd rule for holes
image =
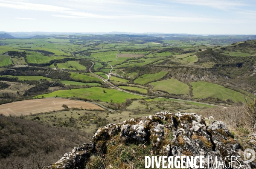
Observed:
[[[186,83],[182,83],[174,78],[152,82],[149,84],[154,86],[154,90],[163,90],[169,94],[175,95],[189,95],[189,86]]]

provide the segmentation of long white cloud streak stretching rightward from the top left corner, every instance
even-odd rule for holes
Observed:
[[[102,2],[102,0],[96,0]],[[112,0],[113,2],[117,2]],[[203,2],[205,0],[199,0]],[[216,0],[214,0],[216,1]],[[125,1],[126,2],[126,1]],[[192,0],[180,0],[180,2],[195,2]],[[207,17],[176,17],[176,16],[161,16],[161,15],[141,15],[141,14],[128,14],[128,15],[102,15],[102,14],[93,14],[84,11],[78,11],[76,9],[61,7],[61,6],[52,6],[38,3],[27,3],[13,0],[0,0],[0,7],[7,7],[12,9],[21,9],[21,10],[33,10],[33,11],[46,11],[54,12],[57,14],[52,14],[54,17],[65,17],[65,18],[101,18],[101,19],[141,19],[144,20],[160,20],[168,22],[201,22],[201,23],[216,23],[221,22],[222,20],[207,18]]]

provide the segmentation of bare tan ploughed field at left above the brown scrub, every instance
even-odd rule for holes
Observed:
[[[84,101],[61,99],[61,98],[45,98],[35,100],[23,100],[13,103],[6,103],[0,105],[0,114],[9,115],[30,115],[30,113],[50,112],[53,110],[64,109],[63,104],[66,104],[69,108],[83,108],[83,109],[102,109],[93,103],[87,103]]]

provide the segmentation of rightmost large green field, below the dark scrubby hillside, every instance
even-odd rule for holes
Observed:
[[[191,82],[190,84],[192,85],[195,98],[206,98],[211,96],[221,100],[230,99],[233,100],[233,102],[245,101],[243,94],[217,84],[204,81]]]

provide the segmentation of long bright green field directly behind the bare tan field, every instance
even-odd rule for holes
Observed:
[[[105,93],[103,92],[105,90]],[[83,97],[88,99],[99,99],[104,102],[110,102],[111,99],[114,103],[125,102],[126,98],[145,98],[138,95],[132,95],[130,93],[125,93],[116,89],[107,89],[101,87],[91,87],[85,89],[71,89],[71,90],[58,90],[52,93],[38,95],[36,97]],[[36,98],[34,97],[34,98]]]

